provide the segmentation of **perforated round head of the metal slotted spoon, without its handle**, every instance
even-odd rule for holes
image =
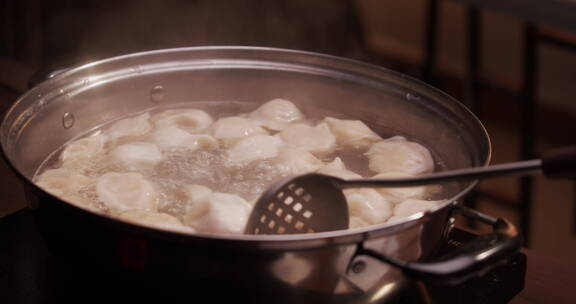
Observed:
[[[296,234],[348,229],[348,205],[338,181],[306,174],[274,184],[254,205],[244,232]]]

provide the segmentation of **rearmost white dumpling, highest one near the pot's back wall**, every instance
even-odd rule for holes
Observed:
[[[285,99],[273,99],[261,105],[252,113],[250,118],[259,121],[264,127],[280,131],[287,124],[304,118],[302,112],[290,101]]]

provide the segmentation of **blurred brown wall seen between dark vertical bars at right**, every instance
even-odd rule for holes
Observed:
[[[357,3],[364,20],[368,49],[408,63],[422,63],[427,0],[358,0]],[[465,7],[456,0],[439,3],[438,69],[444,74],[461,78],[465,71]],[[516,93],[521,85],[522,25],[522,20],[513,16],[483,11],[481,77],[495,87]],[[573,37],[576,43],[576,35]],[[553,110],[571,117],[565,126],[555,129],[557,132],[574,128],[576,53],[552,46],[541,46],[539,51],[538,103],[541,109],[546,107],[547,112]],[[501,97],[495,101],[506,102]],[[489,108],[500,107],[493,105]],[[517,109],[515,105],[502,108],[503,112]],[[498,115],[489,112],[483,114],[483,121],[493,141],[493,162],[518,160],[519,138],[514,119],[496,121],[493,117]],[[544,128],[548,123],[553,122],[543,120],[539,127]],[[547,137],[540,137],[537,141],[541,150],[548,149],[552,142]],[[576,138],[568,138],[566,142],[576,144]],[[480,188],[483,192],[498,193],[513,200],[517,197],[518,186],[514,179],[486,180]],[[573,265],[576,265],[575,196],[573,181],[535,178],[530,235],[532,248]],[[490,200],[480,201],[479,208],[489,214],[518,220],[518,214],[513,209]]]

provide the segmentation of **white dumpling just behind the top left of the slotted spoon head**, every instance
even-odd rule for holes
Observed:
[[[276,158],[278,170],[288,175],[314,172],[323,165],[324,163],[312,153],[294,148],[283,149]]]

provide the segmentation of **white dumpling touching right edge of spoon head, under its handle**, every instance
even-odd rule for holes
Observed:
[[[350,216],[358,217],[370,225],[384,223],[392,216],[393,204],[374,189],[346,189],[343,192]]]

